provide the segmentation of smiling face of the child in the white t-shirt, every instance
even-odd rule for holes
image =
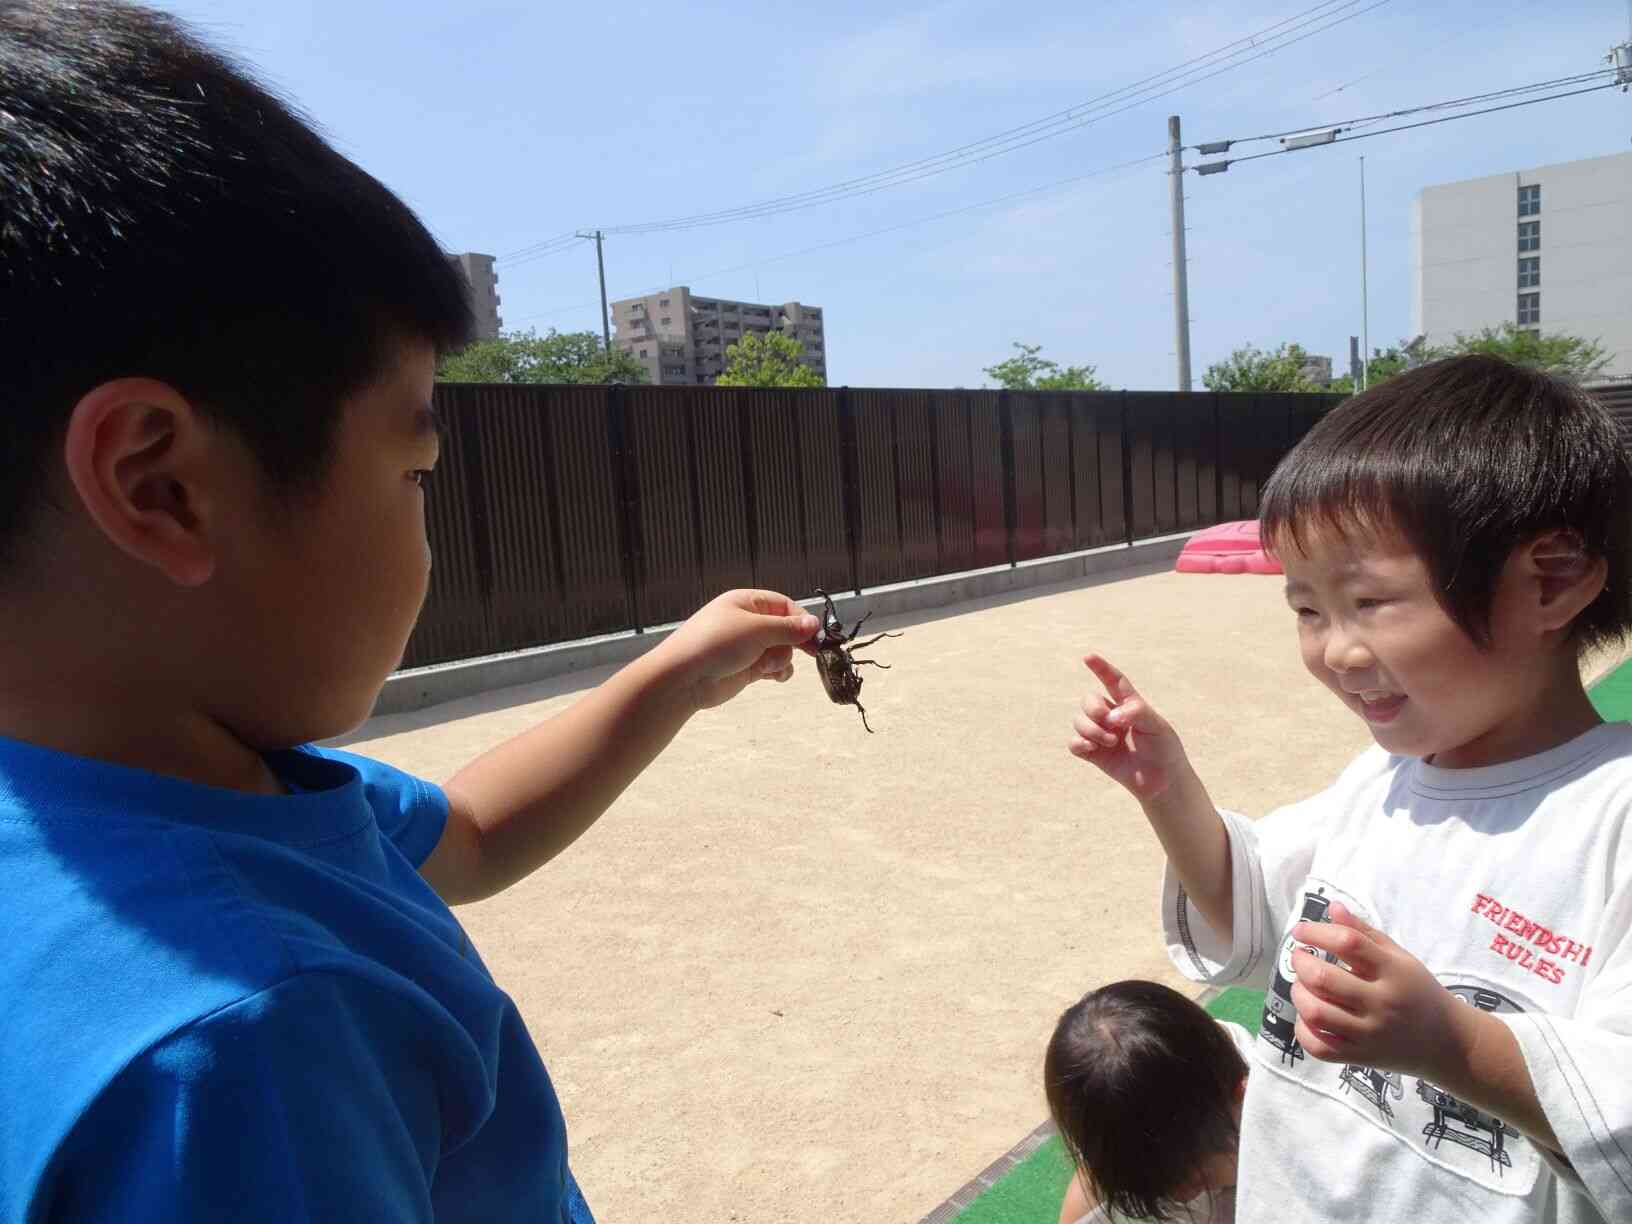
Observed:
[[[1426,563],[1395,532],[1322,530],[1281,550],[1304,666],[1389,752],[1466,769],[1557,743],[1537,726],[1537,674],[1557,666],[1516,625],[1513,565],[1497,586],[1488,650],[1435,597]],[[1573,656],[1570,656],[1573,666]]]

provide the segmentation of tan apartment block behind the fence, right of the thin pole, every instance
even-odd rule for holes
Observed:
[[[725,370],[725,351],[743,336],[780,331],[803,346],[800,362],[827,382],[827,336],[821,307],[769,305],[698,297],[685,286],[612,304],[612,343],[646,367],[653,384],[712,385]]]

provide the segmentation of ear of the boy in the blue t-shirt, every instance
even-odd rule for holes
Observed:
[[[91,522],[121,552],[176,586],[215,570],[206,530],[212,434],[197,410],[153,379],[114,379],[69,415],[69,480]]]

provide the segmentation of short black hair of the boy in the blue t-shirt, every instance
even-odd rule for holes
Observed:
[[[470,328],[413,212],[176,18],[0,0],[0,550],[101,382],[173,385],[307,490],[348,395]]]

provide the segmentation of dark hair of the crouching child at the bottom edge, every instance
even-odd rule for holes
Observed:
[[[1160,982],[1124,981],[1066,1009],[1043,1059],[1048,1110],[1111,1213],[1165,1221],[1203,1160],[1240,1139],[1247,1062],[1217,1020]]]

